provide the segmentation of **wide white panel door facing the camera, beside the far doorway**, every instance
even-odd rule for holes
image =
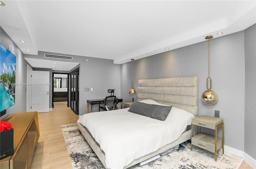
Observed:
[[[49,82],[49,71],[32,71],[32,111],[49,112]]]

